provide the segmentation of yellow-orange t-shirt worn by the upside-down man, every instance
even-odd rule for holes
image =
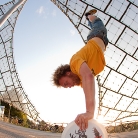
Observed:
[[[80,76],[80,66],[86,62],[94,75],[98,75],[105,66],[105,58],[101,48],[94,40],[89,40],[88,43],[74,54],[70,60],[70,68],[74,74]]]

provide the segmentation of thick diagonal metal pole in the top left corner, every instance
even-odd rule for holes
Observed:
[[[11,7],[11,9],[9,9],[9,11],[7,11],[7,13],[3,15],[3,17],[0,19],[0,27],[5,23],[10,15],[25,1],[26,0],[19,0],[15,5]]]

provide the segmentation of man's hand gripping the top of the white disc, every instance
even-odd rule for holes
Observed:
[[[86,130],[88,128],[88,120],[92,118],[93,115],[90,112],[82,113],[76,117],[75,123],[80,128],[80,130]]]

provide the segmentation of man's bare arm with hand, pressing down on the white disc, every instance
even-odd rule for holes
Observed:
[[[80,129],[87,129],[88,120],[94,117],[95,110],[95,80],[92,71],[84,62],[80,67],[80,75],[82,77],[82,87],[85,94],[86,113],[79,114],[75,123]]]

